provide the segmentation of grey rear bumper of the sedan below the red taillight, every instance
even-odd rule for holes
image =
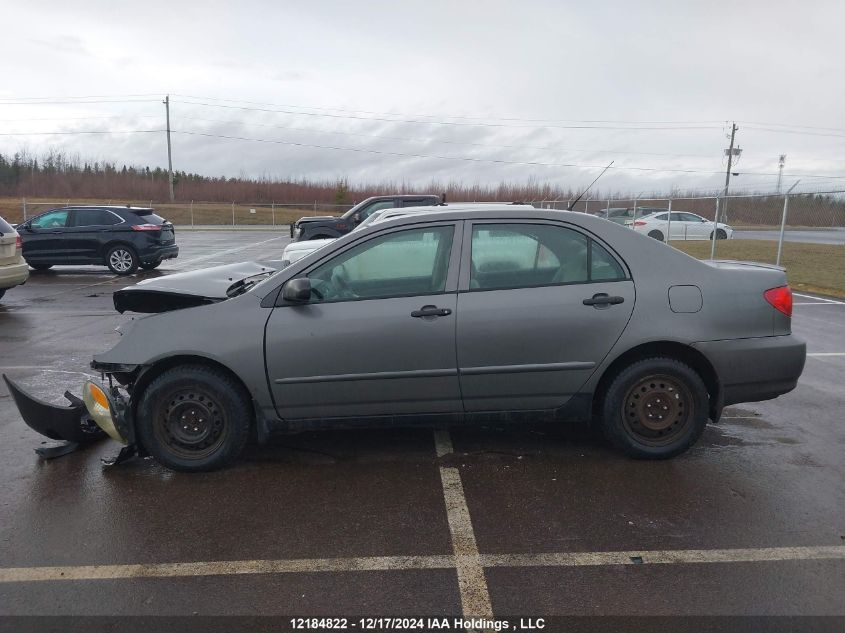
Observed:
[[[795,389],[807,345],[786,336],[761,336],[696,343],[716,370],[724,404],[771,400]]]

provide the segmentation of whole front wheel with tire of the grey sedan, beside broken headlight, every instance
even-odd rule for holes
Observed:
[[[229,375],[202,365],[165,371],[138,405],[137,432],[155,459],[183,472],[216,470],[246,446],[252,407]]]

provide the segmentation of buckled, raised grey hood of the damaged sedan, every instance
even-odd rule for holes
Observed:
[[[228,299],[250,277],[279,268],[269,262],[241,262],[145,279],[115,292],[114,308],[120,313],[167,312],[216,303]]]

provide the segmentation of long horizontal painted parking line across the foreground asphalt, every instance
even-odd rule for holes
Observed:
[[[630,550],[618,552],[549,552],[543,554],[471,554],[432,556],[369,556],[361,558],[299,558],[289,560],[201,561],[142,565],[80,565],[67,567],[0,568],[0,583],[61,582],[80,580],[122,580],[132,578],[184,578],[250,574],[295,574],[318,572],[406,571],[458,569],[469,564],[484,567],[607,567],[613,565],[689,565],[714,563],[770,563],[784,561],[845,560],[845,545],[804,547],[761,547],[705,550]],[[485,584],[486,590],[486,584]],[[461,599],[464,599],[461,589]],[[462,602],[463,603],[463,602]],[[479,604],[486,608],[485,594]],[[479,617],[479,616],[476,616]]]

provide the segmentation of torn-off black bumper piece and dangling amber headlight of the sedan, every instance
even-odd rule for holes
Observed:
[[[35,449],[41,457],[52,459],[66,455],[106,436],[124,445],[117,458],[107,464],[124,461],[137,452],[129,401],[111,380],[109,387],[94,380],[85,381],[82,398],[66,391],[65,398],[70,406],[61,406],[27,393],[5,374],[3,379],[27,426],[51,440],[63,442]]]

